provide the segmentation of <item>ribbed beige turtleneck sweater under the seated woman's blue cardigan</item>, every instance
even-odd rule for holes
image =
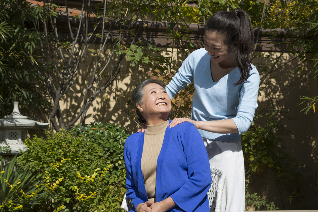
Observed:
[[[143,141],[141,170],[148,199],[156,202],[156,169],[157,159],[162,147],[164,133],[169,120],[157,125],[147,125]]]

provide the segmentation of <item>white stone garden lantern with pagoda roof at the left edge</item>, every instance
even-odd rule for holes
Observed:
[[[38,121],[29,120],[28,117],[21,115],[19,112],[19,102],[13,102],[13,112],[0,119],[0,146],[10,147],[10,153],[2,154],[17,154],[26,150],[24,140],[27,136],[28,129],[43,129],[49,126],[50,123],[41,123]]]

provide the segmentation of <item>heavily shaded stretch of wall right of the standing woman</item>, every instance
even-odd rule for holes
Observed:
[[[286,54],[286,57],[291,55]],[[253,62],[253,64],[260,63],[257,60]],[[266,62],[268,61],[263,61],[263,63]],[[280,65],[282,64],[278,64],[277,67]],[[293,199],[290,203],[289,197],[293,194],[284,191],[283,185],[277,187],[273,181],[268,182],[267,171],[260,174],[261,180],[254,181],[254,185],[251,185],[252,193],[254,190],[258,194],[267,193],[266,199],[275,202],[280,210],[317,209],[317,187],[315,187],[317,180],[315,179],[318,169],[318,115],[313,109],[307,114],[304,114],[304,111],[300,112],[307,105],[305,103],[299,105],[302,102],[300,99],[302,96],[317,96],[317,80],[314,80],[313,73],[307,76],[308,67],[301,74],[290,73],[296,65],[297,63],[286,65],[268,76],[262,84],[266,88],[261,91],[262,96],[259,97],[259,107],[256,111],[256,114],[266,115],[274,107],[275,110],[286,112],[274,114],[273,118],[282,125],[274,129],[274,132],[279,139],[279,147],[300,161],[301,179],[294,184],[294,195],[298,195],[300,202]],[[262,76],[264,74],[261,73],[261,79]],[[260,125],[265,124],[260,117],[256,117],[255,122]],[[288,177],[292,176],[285,176],[285,178]]]

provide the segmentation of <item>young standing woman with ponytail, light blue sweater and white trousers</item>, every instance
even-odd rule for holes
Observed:
[[[222,211],[245,208],[241,133],[252,124],[257,108],[259,73],[250,63],[254,35],[243,10],[219,11],[205,25],[204,48],[193,51],[166,86],[172,99],[194,81],[191,119],[201,133],[211,166],[225,170]]]

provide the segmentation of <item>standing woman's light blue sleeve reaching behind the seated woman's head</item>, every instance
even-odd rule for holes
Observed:
[[[180,90],[192,82],[194,70],[193,53],[194,52],[185,58],[178,72],[165,87],[170,99],[172,99]]]

